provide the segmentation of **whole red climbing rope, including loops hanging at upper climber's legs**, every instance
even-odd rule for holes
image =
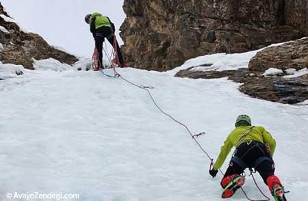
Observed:
[[[118,53],[117,53],[117,46],[116,46],[116,36],[114,36],[114,51],[112,52],[112,55],[111,57],[108,57],[107,55],[107,52],[105,51],[104,49],[104,52],[105,52],[105,55],[107,56],[107,58],[109,59],[109,62],[110,64],[112,65],[112,68],[114,69],[114,76],[113,77],[117,77],[117,78],[120,78],[122,79],[123,81],[129,83],[130,85],[133,85],[137,88],[140,88],[142,90],[145,90],[148,94],[149,94],[149,97],[151,98],[153,104],[155,105],[155,107],[157,107],[157,109],[163,113],[165,116],[168,116],[171,120],[173,120],[174,122],[176,122],[177,124],[183,126],[185,128],[186,131],[188,131],[188,133],[190,134],[190,136],[192,137],[192,139],[194,140],[194,142],[196,143],[196,145],[201,149],[201,151],[207,155],[207,157],[209,158],[210,160],[210,166],[209,168],[211,169],[213,163],[214,163],[214,159],[212,159],[209,155],[209,153],[205,150],[205,148],[203,148],[203,146],[201,146],[201,144],[198,142],[197,140],[197,137],[201,136],[201,135],[205,135],[206,133],[205,132],[202,132],[202,133],[198,133],[198,134],[193,134],[192,131],[190,131],[190,129],[188,128],[188,126],[186,126],[185,124],[183,124],[182,122],[180,122],[179,120],[176,120],[175,118],[173,118],[173,116],[171,116],[169,113],[166,113],[166,111],[164,111],[161,107],[159,107],[159,105],[157,104],[155,98],[153,98],[153,95],[151,94],[151,89],[154,89],[153,87],[151,86],[144,86],[144,85],[139,85],[139,84],[136,84],[136,83],[133,83],[132,81],[129,81],[128,79],[125,79],[124,77],[122,77],[117,71],[116,71],[116,65],[114,65],[114,61],[118,62],[119,64],[119,61],[118,61]],[[94,51],[95,53],[95,51]],[[115,59],[112,60],[112,57],[114,57]],[[103,70],[101,70],[101,72],[103,72]],[[103,72],[103,75],[106,75],[104,72]],[[107,75],[108,77],[111,77],[110,75]],[[222,174],[222,176],[224,176],[224,173],[222,172],[221,169],[219,169],[219,172]],[[270,198],[268,198],[268,196],[266,196],[266,194],[261,191],[259,185],[257,184],[257,181],[255,180],[255,176],[253,176],[253,171],[251,170],[251,174],[249,176],[252,176],[253,177],[253,181],[257,187],[257,189],[260,191],[260,193],[262,194],[262,196],[264,196],[264,198],[266,198],[266,200],[253,200],[251,198],[249,198],[247,196],[247,193],[246,191],[244,191],[244,189],[241,187],[240,189],[242,190],[242,193],[244,194],[244,196],[246,197],[247,200],[249,201],[270,201]]]

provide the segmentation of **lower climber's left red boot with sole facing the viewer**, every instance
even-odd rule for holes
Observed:
[[[222,179],[221,185],[224,188],[224,191],[221,194],[222,198],[230,198],[233,196],[235,191],[240,189],[245,183],[245,177],[240,176],[239,174],[233,174],[231,176],[226,176]]]

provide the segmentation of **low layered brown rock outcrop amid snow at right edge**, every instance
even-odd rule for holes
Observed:
[[[281,69],[283,73],[264,77],[264,72],[269,68]],[[308,74],[298,77],[285,77],[285,75],[305,68],[308,68],[308,38],[259,51],[249,62],[248,68],[222,72],[186,69],[179,71],[176,76],[193,79],[229,77],[233,81],[243,83],[239,90],[244,94],[254,98],[294,104],[308,100]]]

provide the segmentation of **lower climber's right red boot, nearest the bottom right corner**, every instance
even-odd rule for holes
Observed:
[[[266,179],[266,182],[268,183],[268,188],[270,189],[270,193],[272,193],[275,201],[287,201],[287,199],[285,199],[283,185],[281,185],[277,176],[269,176]]]

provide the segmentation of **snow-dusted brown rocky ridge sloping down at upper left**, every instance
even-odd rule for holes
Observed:
[[[0,3],[0,43],[3,49],[0,51],[0,61],[10,64],[21,64],[25,68],[33,68],[34,59],[47,59],[52,57],[62,63],[74,64],[77,58],[63,51],[51,47],[38,34],[25,33],[14,22],[5,21],[8,14],[3,10]],[[9,18],[10,19],[10,18]]]

